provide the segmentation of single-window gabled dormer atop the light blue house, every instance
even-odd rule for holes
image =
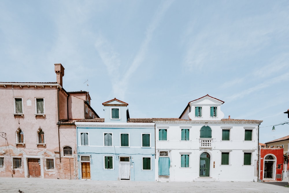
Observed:
[[[127,122],[129,119],[127,103],[116,98],[102,103],[104,122]]]

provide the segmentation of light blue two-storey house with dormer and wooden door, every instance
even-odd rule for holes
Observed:
[[[155,124],[128,122],[127,103],[103,103],[104,119],[75,122],[79,179],[155,180]]]

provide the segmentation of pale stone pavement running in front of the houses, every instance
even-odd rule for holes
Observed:
[[[289,192],[283,182],[134,182],[134,181],[83,181],[39,178],[0,178],[0,192],[15,192],[20,189],[31,192]]]

